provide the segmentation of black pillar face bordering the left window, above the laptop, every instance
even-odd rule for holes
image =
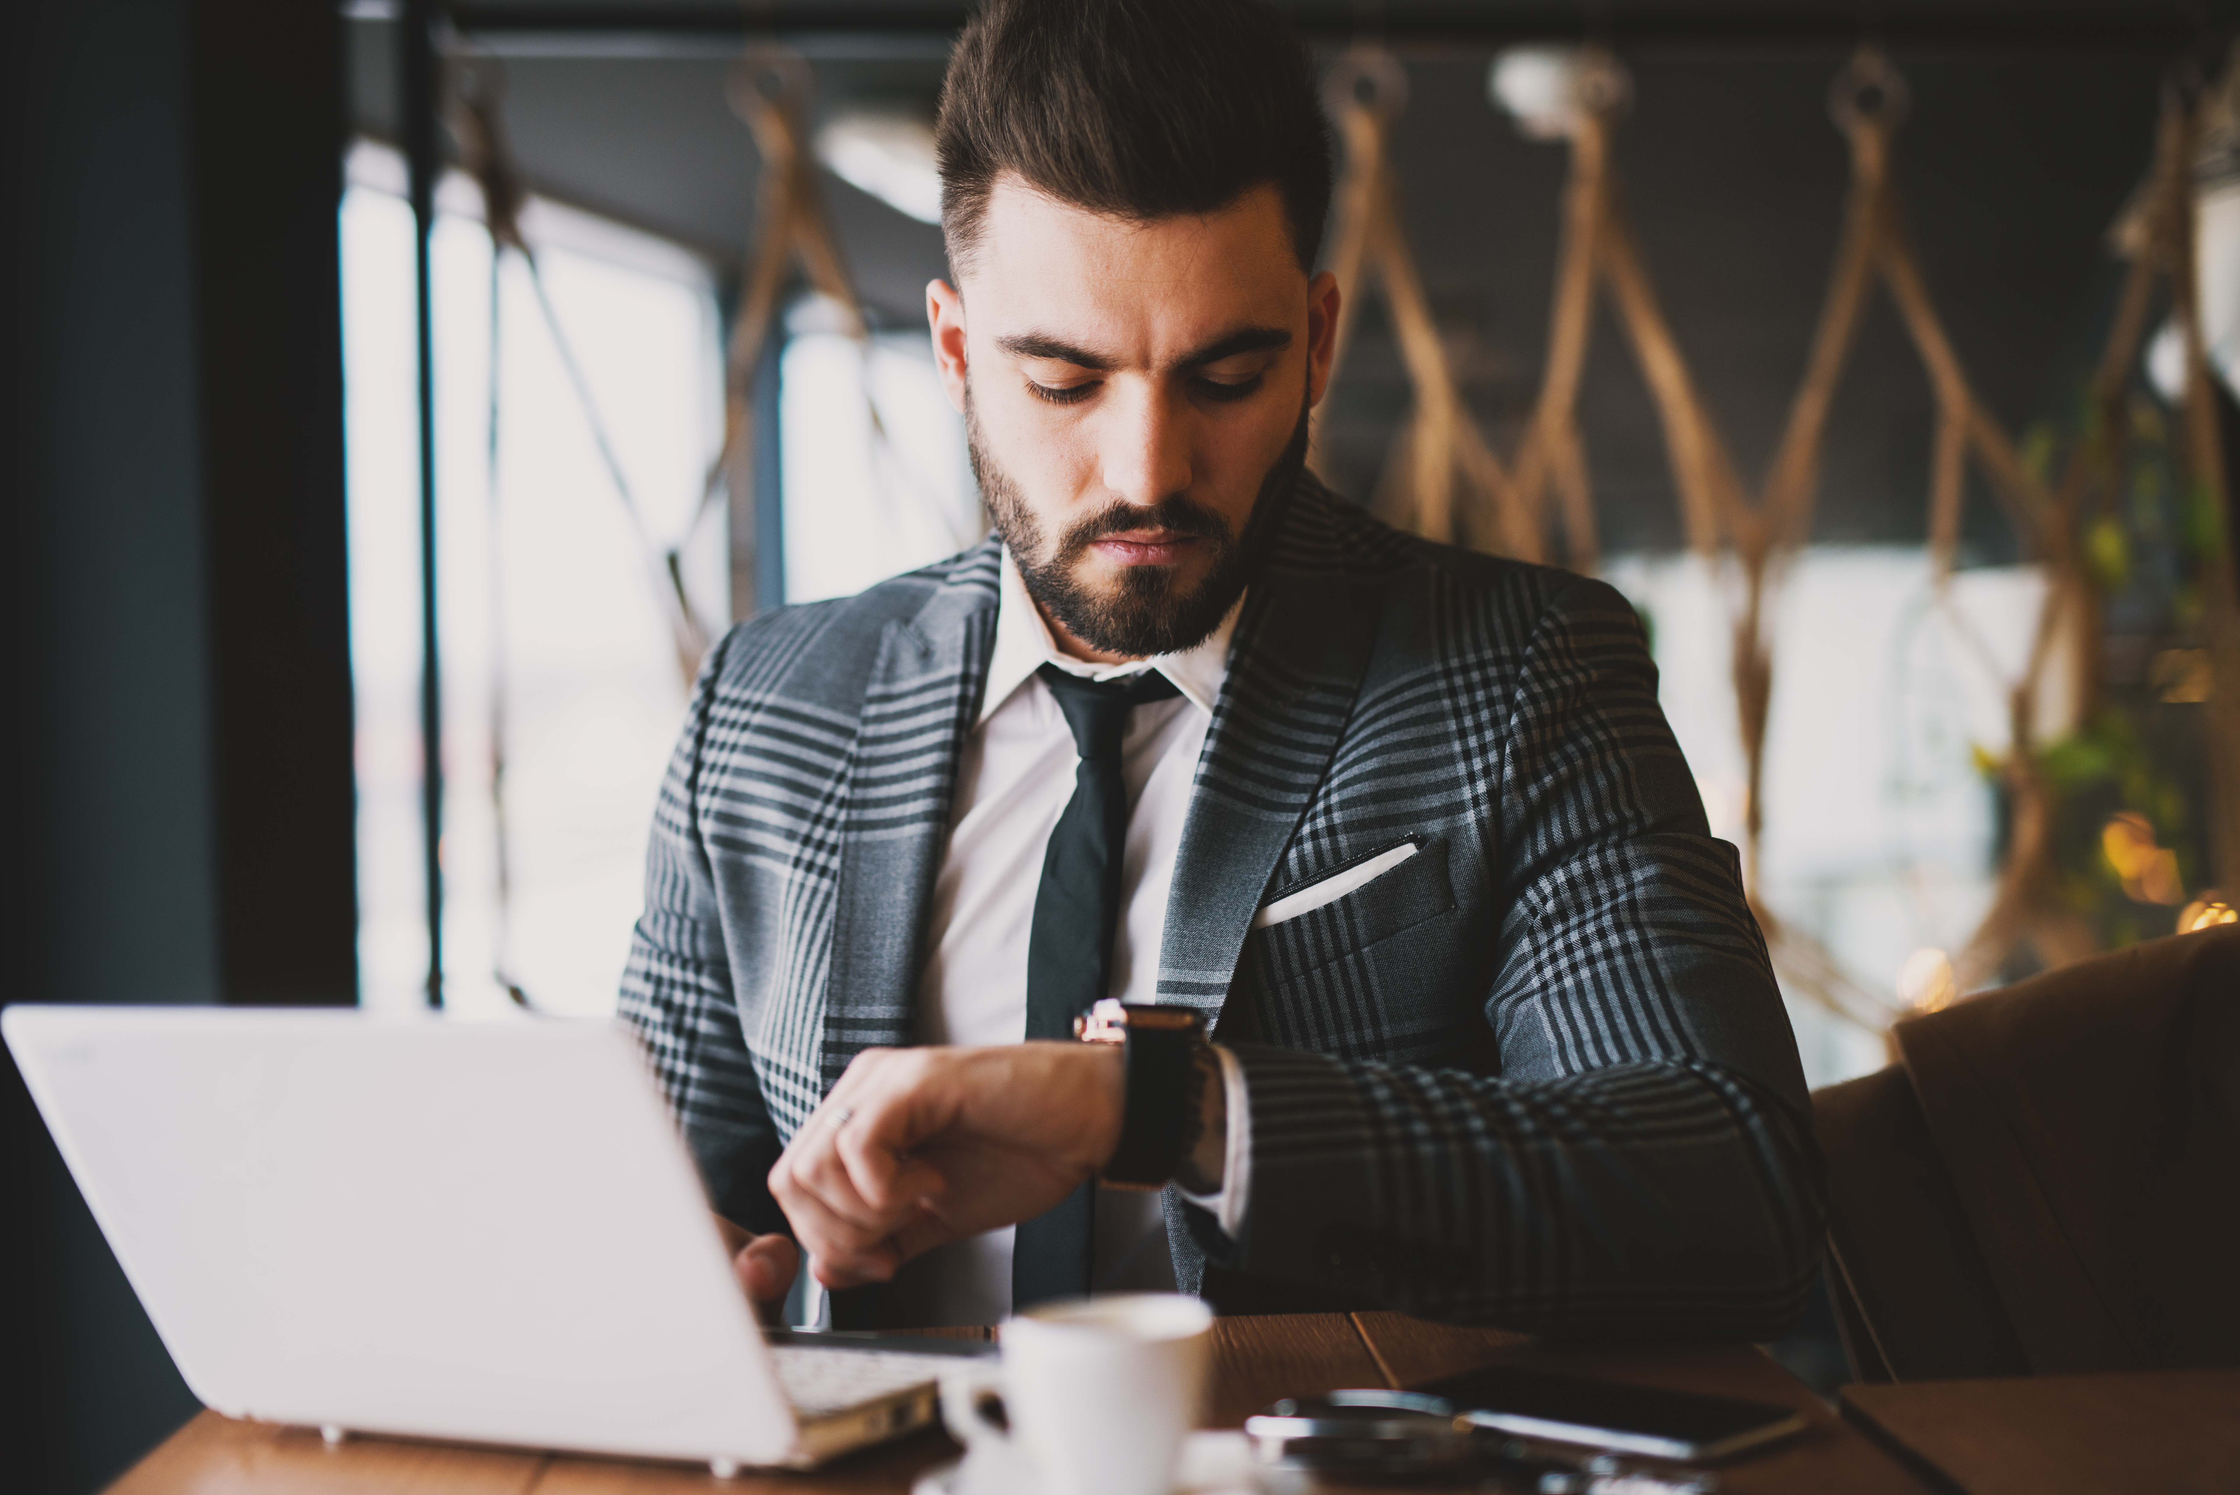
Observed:
[[[340,22],[193,7],[195,394],[226,1002],[356,1002]]]

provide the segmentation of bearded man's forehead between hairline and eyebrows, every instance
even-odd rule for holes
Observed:
[[[961,273],[974,341],[1035,332],[1156,361],[1243,323],[1304,316],[1284,199],[1257,186],[1207,215],[1091,213],[1006,175]]]

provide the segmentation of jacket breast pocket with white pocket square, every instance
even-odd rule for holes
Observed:
[[[1413,852],[1404,854],[1407,847]],[[1373,874],[1362,881],[1362,872]],[[1452,910],[1447,838],[1411,836],[1279,888],[1261,906],[1250,944],[1261,979],[1284,986]]]

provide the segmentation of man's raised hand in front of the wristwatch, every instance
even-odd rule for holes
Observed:
[[[865,1049],[771,1168],[771,1195],[818,1282],[885,1282],[1071,1195],[1120,1145],[1122,1107],[1111,1044]]]

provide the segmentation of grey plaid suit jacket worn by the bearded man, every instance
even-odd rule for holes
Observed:
[[[849,1060],[912,1042],[997,558],[741,623],[694,690],[620,1011],[748,1228],[784,1228],[764,1177]],[[1252,1112],[1236,1239],[1167,1195],[1187,1291],[1729,1338],[1803,1302],[1826,1186],[1794,1038],[1597,581],[1301,480],[1198,760],[1158,993],[1207,1013]],[[836,1296],[842,1325],[923,1316],[909,1269]]]

